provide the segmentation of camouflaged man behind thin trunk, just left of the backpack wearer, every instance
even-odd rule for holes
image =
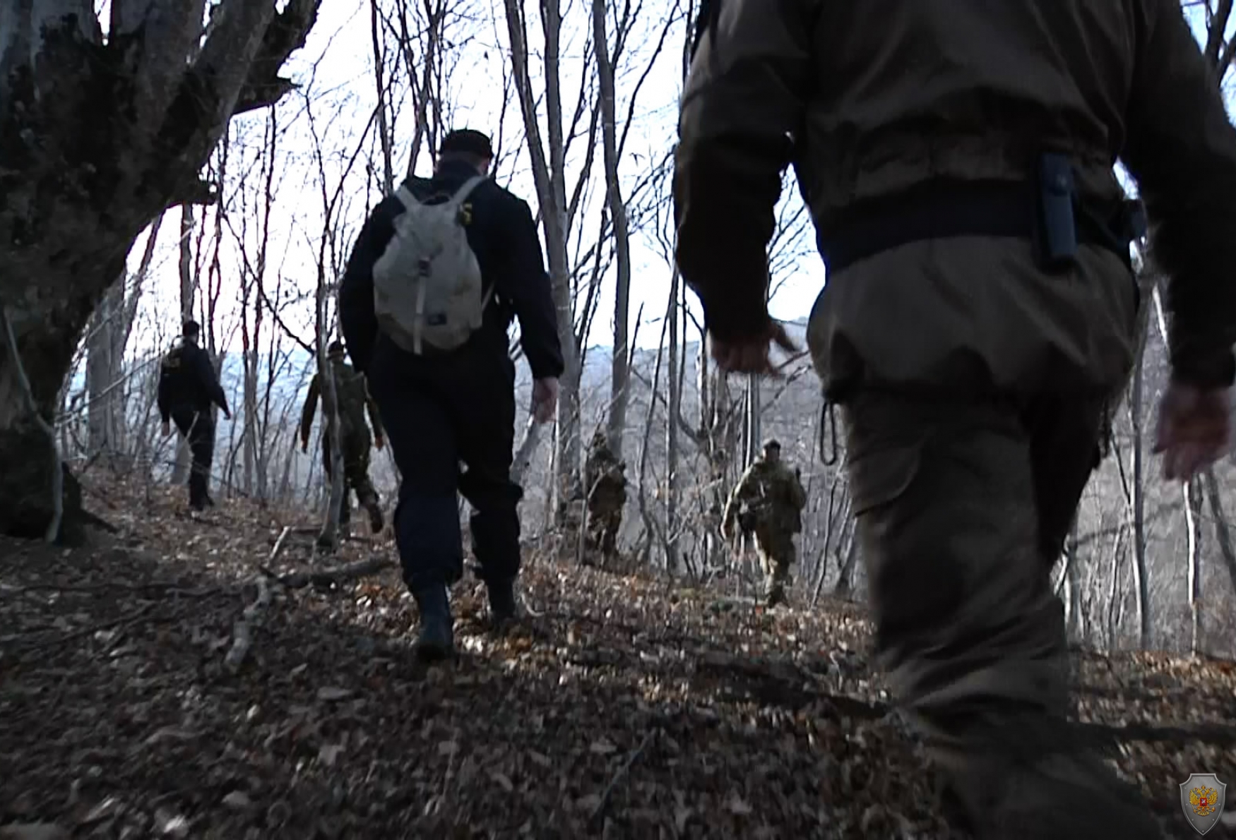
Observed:
[[[384,525],[382,518],[382,505],[378,502],[377,490],[370,481],[370,446],[379,450],[384,445],[382,430],[382,416],[378,406],[370,397],[365,384],[365,377],[357,373],[351,364],[344,361],[342,342],[334,341],[326,348],[326,363],[335,378],[335,394],[339,399],[339,440],[344,446],[344,499],[339,511],[339,527],[346,532],[352,519],[351,494],[356,493],[356,500],[370,513],[370,527],[378,534]],[[315,373],[309,383],[309,394],[305,397],[305,405],[300,413],[300,450],[309,451],[309,432],[313,430],[313,418],[318,413],[318,399],[326,394],[321,382],[321,373]],[[323,411],[329,411],[330,406],[323,399]],[[373,422],[373,437],[370,439],[370,427],[365,422],[365,411],[368,410],[370,420]],[[328,481],[332,479],[334,461],[330,450],[330,435],[323,431],[321,460],[326,469]]]

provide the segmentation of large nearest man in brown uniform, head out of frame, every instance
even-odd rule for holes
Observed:
[[[1138,338],[1117,158],[1170,283],[1164,472],[1227,443],[1236,132],[1179,0],[726,0],[680,132],[677,261],[723,369],[790,343],[765,248],[795,166],[876,647],[952,804],[980,838],[1158,838],[1070,737],[1049,572]]]

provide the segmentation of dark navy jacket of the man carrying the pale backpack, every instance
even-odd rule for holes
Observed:
[[[462,162],[442,163],[431,179],[409,178],[408,189],[418,199],[435,193],[454,194],[476,175]],[[507,330],[519,319],[520,345],[533,377],[562,374],[562,350],[557,338],[557,310],[545,273],[545,258],[528,203],[515,198],[492,179],[478,184],[468,196],[472,205],[467,240],[481,266],[485,288],[494,294],[486,308],[485,322],[473,341],[492,342],[507,350]],[[370,214],[356,237],[339,289],[339,320],[347,353],[362,373],[368,369],[378,338],[373,314],[373,264],[394,236],[394,220],[404,211],[394,195],[383,199]]]

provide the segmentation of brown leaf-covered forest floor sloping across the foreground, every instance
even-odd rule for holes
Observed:
[[[426,668],[393,566],[277,581],[389,562],[388,542],[324,561],[284,534],[309,518],[88,500],[119,535],[0,540],[0,838],[962,836],[857,605],[769,611],[533,557],[519,626],[489,634],[468,576],[460,656]],[[1168,836],[1196,836],[1178,786],[1236,782],[1236,666],[1079,658],[1085,730]]]

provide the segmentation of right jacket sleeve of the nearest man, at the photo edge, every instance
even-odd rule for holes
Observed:
[[[1178,0],[1143,0],[1121,154],[1168,275],[1173,378],[1236,378],[1236,130]]]

